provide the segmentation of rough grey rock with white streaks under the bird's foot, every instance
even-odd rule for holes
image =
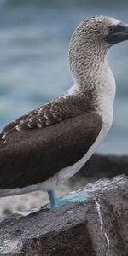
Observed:
[[[83,191],[89,201],[0,218],[0,255],[128,255],[128,178],[102,179]]]

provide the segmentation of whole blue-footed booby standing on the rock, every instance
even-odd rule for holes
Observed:
[[[0,196],[48,192],[52,209],[90,195],[59,198],[55,187],[90,159],[113,122],[116,84],[108,49],[128,39],[128,25],[108,16],[82,21],[69,43],[73,86],[6,125],[0,133]]]

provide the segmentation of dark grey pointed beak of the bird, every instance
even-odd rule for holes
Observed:
[[[120,22],[118,25],[113,27],[113,32],[110,32],[104,40],[109,44],[117,44],[128,40],[128,24]]]

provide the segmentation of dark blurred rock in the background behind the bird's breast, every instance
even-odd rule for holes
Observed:
[[[120,174],[128,175],[128,155],[93,154],[75,176],[97,179]]]

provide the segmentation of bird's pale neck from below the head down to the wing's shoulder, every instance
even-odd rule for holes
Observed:
[[[75,90],[79,96],[91,95],[94,108],[102,114],[104,123],[113,120],[113,101],[115,96],[115,81],[108,66],[106,52],[89,51],[83,54],[72,55],[70,68],[73,73]]]

